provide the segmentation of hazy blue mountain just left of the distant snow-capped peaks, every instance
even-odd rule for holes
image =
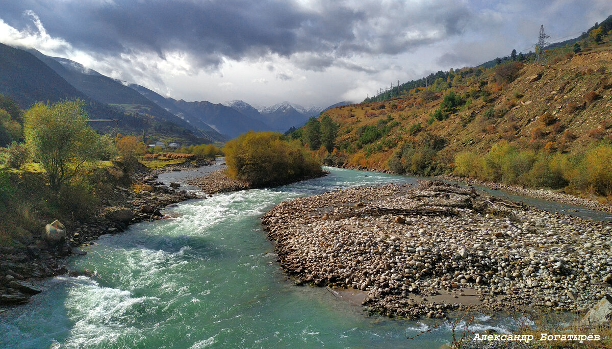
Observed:
[[[185,102],[182,99],[169,100],[173,101],[177,108],[187,112],[185,120],[188,120],[190,124],[196,127],[207,124],[230,138],[237,137],[249,130],[269,130],[269,126],[263,122],[248,118],[239,111],[222,104],[214,104],[206,100],[201,102]]]

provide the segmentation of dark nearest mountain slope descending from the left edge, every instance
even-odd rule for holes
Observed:
[[[57,62],[58,64],[61,64]],[[56,67],[57,68],[57,67]],[[58,70],[61,70],[58,68]],[[95,76],[95,73],[92,73]],[[205,143],[207,140],[196,138],[184,127],[162,119],[125,112],[119,108],[92,99],[79,91],[54,69],[34,54],[0,43],[0,94],[15,100],[20,108],[27,109],[36,102],[59,102],[68,99],[81,99],[84,109],[91,119],[120,119],[122,133],[164,133],[173,139]],[[114,130],[114,122],[92,123],[102,132]]]

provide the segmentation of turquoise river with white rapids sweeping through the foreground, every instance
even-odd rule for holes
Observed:
[[[91,277],[45,280],[45,291],[29,304],[0,314],[0,347],[425,349],[449,343],[449,326],[409,340],[406,335],[433,321],[368,317],[326,288],[297,287],[282,273],[259,222],[268,209],[338,188],[416,182],[327,170],[329,176],[288,186],[185,201],[165,209],[172,219],[101,236],[87,255],[67,261]],[[512,318],[482,315],[472,331],[513,326]]]

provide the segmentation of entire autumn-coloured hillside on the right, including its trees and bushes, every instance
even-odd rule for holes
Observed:
[[[331,151],[326,163],[419,175],[455,171],[533,186],[572,184],[570,177],[581,171],[578,164],[594,149],[600,154],[593,159],[612,159],[606,157],[612,154],[612,35],[603,29],[608,21],[573,44],[547,50],[547,64],[513,52],[489,69],[439,72],[427,90],[412,81],[417,87],[400,88],[400,97],[378,96],[374,99],[379,101],[322,113],[321,125],[329,117],[338,128],[333,144],[325,148]],[[312,133],[309,122],[292,136],[319,149],[323,142],[315,141],[313,147],[308,137]],[[494,155],[500,159],[492,159]],[[465,159],[472,162],[468,170]],[[502,165],[494,168],[496,161],[506,163],[506,170]],[[551,172],[554,161],[560,162],[555,170],[559,181],[535,180],[542,171]],[[593,163],[591,168],[597,166]],[[589,181],[581,181],[584,189]],[[592,191],[609,195],[612,182],[599,189],[595,185]]]

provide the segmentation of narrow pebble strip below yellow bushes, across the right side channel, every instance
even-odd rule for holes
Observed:
[[[585,208],[595,209],[597,211],[612,212],[612,205],[600,203],[595,198],[592,198],[592,199],[579,198],[579,197],[575,197],[574,195],[556,192],[554,190],[525,188],[525,187],[520,187],[520,186],[510,186],[508,184],[485,182],[485,181],[480,181],[480,179],[455,177],[455,176],[450,176],[450,175],[437,176],[436,178],[446,179],[449,181],[463,182],[467,184],[476,184],[477,186],[487,187],[487,188],[494,189],[494,190],[503,190],[505,192],[518,193],[526,197],[557,201],[559,203],[566,203],[569,205],[583,206]]]

